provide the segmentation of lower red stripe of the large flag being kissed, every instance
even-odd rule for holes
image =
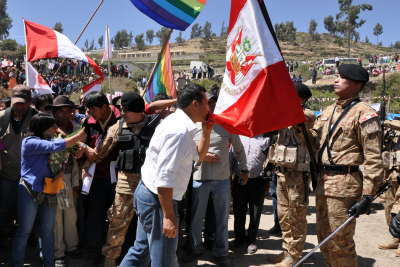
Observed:
[[[228,132],[256,136],[306,121],[285,63],[264,68],[246,92],[214,122]]]

